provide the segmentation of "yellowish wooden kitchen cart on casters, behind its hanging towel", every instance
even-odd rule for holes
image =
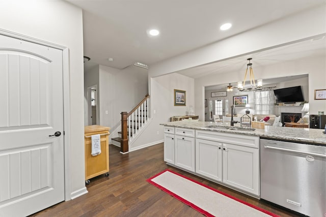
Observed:
[[[108,176],[108,131],[110,128],[99,125],[85,126],[85,181],[90,183],[90,178],[104,174]],[[92,135],[100,134],[101,153],[92,156]]]

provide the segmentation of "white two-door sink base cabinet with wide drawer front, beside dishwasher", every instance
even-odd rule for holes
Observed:
[[[197,130],[196,173],[259,196],[258,145],[256,136]]]

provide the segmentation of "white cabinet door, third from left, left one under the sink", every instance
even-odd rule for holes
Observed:
[[[222,181],[222,143],[196,139],[196,173]]]

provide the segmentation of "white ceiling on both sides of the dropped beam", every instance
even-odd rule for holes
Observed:
[[[197,49],[249,29],[281,19],[318,5],[324,0],[66,0],[83,9],[84,55],[91,58],[85,70],[104,65],[123,69],[135,62],[149,67],[158,61]],[[293,7],[295,6],[295,7]],[[231,22],[229,30],[220,25]],[[149,37],[147,31],[157,28],[160,35]],[[319,46],[319,47],[318,47]],[[325,42],[316,49],[308,44],[300,48],[288,46],[251,55],[259,64],[269,64],[278,58],[297,58],[298,49],[324,52]],[[317,50],[317,51],[316,51]],[[290,55],[280,56],[280,53]],[[302,52],[301,54],[302,55]],[[294,57],[295,56],[295,57]],[[113,58],[113,61],[108,61]],[[233,66],[243,70],[247,57],[230,59],[202,66],[203,73],[184,71],[198,77]],[[258,63],[258,62],[257,62]]]

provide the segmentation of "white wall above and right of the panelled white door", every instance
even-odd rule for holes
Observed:
[[[85,189],[82,10],[63,1],[1,1],[0,28],[69,48],[71,192]]]

